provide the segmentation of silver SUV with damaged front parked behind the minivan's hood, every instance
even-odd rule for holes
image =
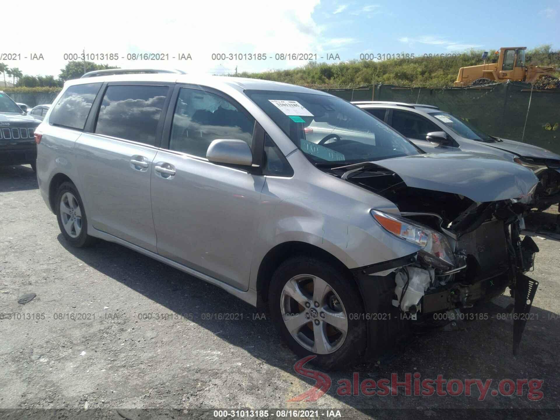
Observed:
[[[423,151],[490,153],[528,167],[539,178],[533,206],[538,211],[560,202],[560,155],[532,144],[490,136],[437,106],[403,102],[352,102],[386,122]],[[431,134],[428,136],[428,134]]]

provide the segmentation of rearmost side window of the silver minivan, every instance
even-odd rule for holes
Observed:
[[[101,83],[70,86],[54,105],[49,123],[83,130]]]

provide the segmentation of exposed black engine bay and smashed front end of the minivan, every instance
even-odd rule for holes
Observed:
[[[413,258],[363,270],[370,276],[394,276],[391,304],[408,319],[426,323],[438,312],[452,315],[501,295],[506,287],[515,298],[515,312],[530,311],[538,283],[524,273],[533,269],[539,249],[530,236],[520,238],[523,216],[531,208],[529,197],[477,203],[459,194],[410,187],[374,162],[329,172],[396,204],[400,217],[372,210],[386,230],[403,239],[409,232],[416,239],[428,232],[419,242],[426,246]],[[514,354],[526,318],[514,318]]]

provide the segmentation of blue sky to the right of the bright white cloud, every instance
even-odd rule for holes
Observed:
[[[458,53],[552,44],[560,48],[560,1],[321,1],[312,17],[341,58],[371,53]]]

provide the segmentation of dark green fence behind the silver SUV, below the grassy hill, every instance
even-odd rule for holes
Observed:
[[[438,106],[492,136],[544,147],[560,154],[560,89],[534,90],[506,82],[466,88],[363,86],[330,89],[348,101],[395,101]]]

